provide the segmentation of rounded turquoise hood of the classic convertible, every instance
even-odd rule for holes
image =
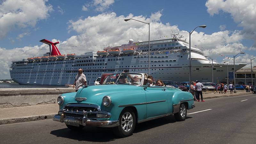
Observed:
[[[127,84],[104,84],[104,85],[93,85],[80,88],[76,92],[74,98],[69,99],[68,103],[86,103],[86,104],[96,104],[97,101],[105,95],[111,97],[111,93],[117,92],[132,92],[134,90],[142,89],[140,86],[127,85]],[[76,101],[76,98],[86,98],[83,101]]]

